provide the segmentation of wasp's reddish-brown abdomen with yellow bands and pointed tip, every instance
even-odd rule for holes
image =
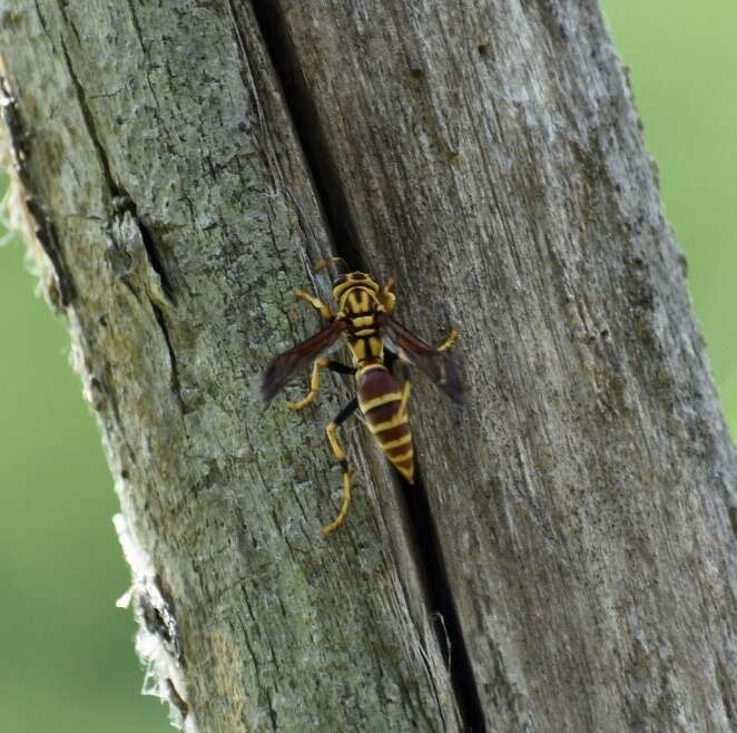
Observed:
[[[402,388],[385,366],[376,366],[358,379],[358,407],[368,429],[386,458],[410,481],[414,480],[412,432],[406,410],[402,413]]]

